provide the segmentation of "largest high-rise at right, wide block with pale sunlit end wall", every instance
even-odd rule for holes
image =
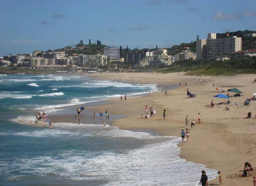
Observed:
[[[207,35],[207,58],[214,59],[216,56],[228,56],[232,52],[242,50],[242,38],[230,37],[217,39],[216,33]]]

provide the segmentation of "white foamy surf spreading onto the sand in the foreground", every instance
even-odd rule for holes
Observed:
[[[91,137],[118,138],[116,140],[123,137],[136,138],[144,140],[145,145],[137,149],[123,150],[120,153],[115,151],[100,151],[98,153],[83,149],[78,151],[71,148],[61,151],[57,157],[44,155],[36,158],[17,158],[8,166],[2,166],[0,171],[7,172],[7,174],[10,171],[8,175],[11,176],[10,167],[15,167],[17,176],[31,174],[41,177],[54,174],[59,179],[65,178],[72,181],[106,181],[108,186],[177,184],[197,186],[200,172],[203,169],[206,170],[208,179],[216,177],[215,170],[207,169],[202,164],[187,162],[179,157],[180,148],[176,144],[180,138],[152,136],[148,133],[131,132],[115,127],[103,128],[100,125],[56,123],[53,124],[53,127],[61,128],[61,130],[49,128],[31,132],[13,132],[12,135],[45,139],[65,136],[67,139],[69,137],[85,137],[84,135],[87,133]],[[5,133],[1,134],[5,135]],[[125,140],[129,141],[129,139]]]

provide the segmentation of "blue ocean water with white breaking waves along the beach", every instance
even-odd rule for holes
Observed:
[[[72,75],[0,74],[0,185],[197,186],[202,170],[215,178],[216,170],[179,157],[177,137],[100,121],[26,125],[37,112],[53,115],[158,89]]]

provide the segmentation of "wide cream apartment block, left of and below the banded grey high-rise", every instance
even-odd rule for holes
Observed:
[[[108,56],[105,55],[80,55],[78,66],[95,68],[108,64]]]

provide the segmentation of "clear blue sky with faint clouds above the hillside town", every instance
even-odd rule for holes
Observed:
[[[0,0],[0,57],[74,45],[171,47],[256,30],[256,0]]]

